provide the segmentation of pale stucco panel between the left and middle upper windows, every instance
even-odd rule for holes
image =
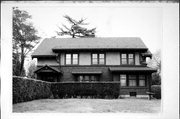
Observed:
[[[91,53],[79,53],[79,65],[91,65]]]

